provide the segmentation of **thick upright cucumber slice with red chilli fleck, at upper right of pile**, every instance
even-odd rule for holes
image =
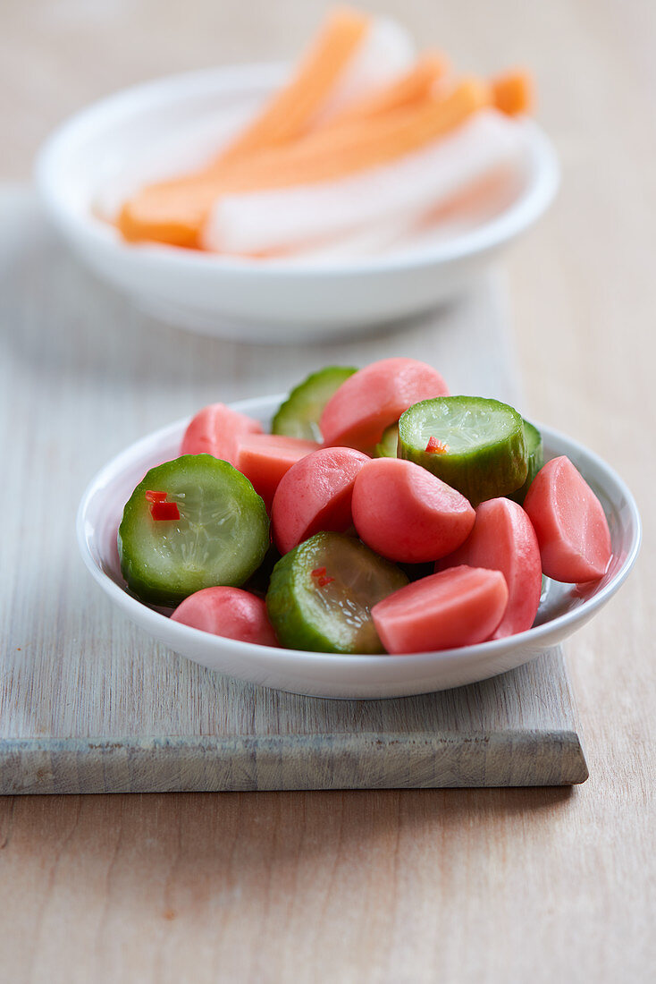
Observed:
[[[443,454],[427,451],[431,438]],[[513,407],[483,397],[415,403],[398,422],[399,458],[415,461],[478,506],[508,495],[528,471],[523,421]]]

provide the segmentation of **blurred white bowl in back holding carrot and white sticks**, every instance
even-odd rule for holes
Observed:
[[[207,156],[212,114],[226,107],[252,111],[283,73],[281,66],[256,65],[173,76],[112,95],[64,123],[38,155],[36,182],[47,213],[82,262],[142,309],[182,328],[246,341],[323,340],[420,313],[457,294],[556,193],[556,155],[525,120],[517,123],[525,139],[521,173],[492,207],[474,210],[434,242],[380,257],[258,262],[127,245],[93,215],[112,175],[138,168],[153,146],[166,157],[170,134],[202,131]],[[179,147],[169,149],[173,173],[192,165]]]

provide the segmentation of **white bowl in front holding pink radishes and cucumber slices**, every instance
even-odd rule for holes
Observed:
[[[281,399],[241,400],[232,405],[268,426]],[[623,584],[638,553],[640,518],[622,479],[575,441],[541,427],[546,456],[567,455],[599,496],[611,528],[613,560],[597,583],[547,582],[536,624],[528,632],[480,646],[404,656],[331,655],[253,646],[212,636],[172,622],[128,594],[116,547],[123,506],[150,467],[178,455],[187,423],[179,420],[133,444],[91,481],[78,511],[82,556],[111,600],[155,639],[209,669],[265,687],[313,697],[405,697],[504,673],[563,642],[584,625]]]

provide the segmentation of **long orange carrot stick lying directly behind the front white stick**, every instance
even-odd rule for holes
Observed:
[[[453,130],[489,101],[487,86],[464,80],[447,94],[318,130],[223,173],[150,185],[124,205],[117,225],[128,240],[199,246],[209,209],[221,194],[332,181],[385,164]]]

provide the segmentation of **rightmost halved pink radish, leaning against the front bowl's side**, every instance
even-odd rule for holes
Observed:
[[[603,577],[612,556],[608,521],[596,495],[565,455],[538,471],[524,509],[537,533],[548,578],[579,584]]]

